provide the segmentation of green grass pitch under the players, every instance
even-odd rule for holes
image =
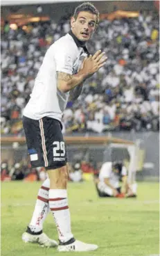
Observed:
[[[33,213],[41,183],[1,184],[1,256],[80,255],[58,253],[21,241]],[[159,184],[139,183],[138,198],[98,198],[94,184],[69,184],[69,207],[75,238],[98,244],[85,256],[147,256],[159,254]],[[57,239],[49,214],[44,232]]]

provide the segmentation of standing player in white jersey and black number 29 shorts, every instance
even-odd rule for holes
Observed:
[[[48,179],[39,189],[33,217],[22,239],[42,246],[57,246],[57,242],[42,231],[50,209],[57,226],[58,251],[98,248],[94,244],[76,240],[71,232],[66,192],[66,148],[61,124],[69,97],[77,99],[82,83],[107,61],[104,52],[99,50],[91,56],[85,46],[96,31],[98,21],[99,13],[93,4],[85,2],[75,8],[71,17],[71,31],[46,51],[30,100],[24,109],[23,124],[31,166],[44,166]]]

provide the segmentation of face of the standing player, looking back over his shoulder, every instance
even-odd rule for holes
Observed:
[[[96,30],[96,15],[89,12],[78,13],[77,19],[71,18],[71,28],[78,40],[88,41]]]

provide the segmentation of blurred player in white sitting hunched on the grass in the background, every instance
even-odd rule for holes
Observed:
[[[122,188],[119,182],[122,181]],[[127,168],[123,163],[106,162],[100,168],[98,177],[94,179],[100,197],[136,197],[137,184],[128,184]]]

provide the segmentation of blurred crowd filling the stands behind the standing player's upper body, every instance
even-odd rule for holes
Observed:
[[[1,29],[1,134],[23,135],[21,116],[46,49],[69,29],[54,21]],[[108,60],[68,102],[63,132],[159,130],[159,20],[152,12],[101,21],[87,48],[102,49]]]

